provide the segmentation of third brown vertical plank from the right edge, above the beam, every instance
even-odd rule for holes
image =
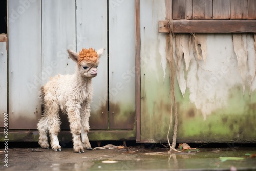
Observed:
[[[230,19],[230,0],[213,0],[212,18]]]

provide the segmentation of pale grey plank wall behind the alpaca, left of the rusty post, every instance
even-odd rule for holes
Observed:
[[[134,1],[10,0],[10,129],[36,129],[42,114],[40,87],[56,74],[74,73],[67,49],[79,52],[83,47],[105,48],[93,78],[91,129],[134,129],[134,6]],[[1,82],[1,88],[6,85]],[[6,104],[1,105],[5,111]],[[61,128],[69,129],[67,115],[60,116]]]

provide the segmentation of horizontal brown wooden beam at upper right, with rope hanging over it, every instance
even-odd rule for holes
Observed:
[[[167,20],[158,22],[159,33],[256,33],[256,20]],[[172,28],[172,29],[170,29]]]

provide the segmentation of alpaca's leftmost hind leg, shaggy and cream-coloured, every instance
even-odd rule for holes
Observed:
[[[43,116],[39,122],[37,123],[37,128],[39,131],[39,141],[38,144],[42,148],[48,148],[49,149],[49,143],[47,138],[47,132],[48,132],[48,119],[47,117]]]

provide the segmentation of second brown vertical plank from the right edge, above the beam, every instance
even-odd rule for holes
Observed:
[[[230,19],[248,19],[248,0],[230,1]]]

